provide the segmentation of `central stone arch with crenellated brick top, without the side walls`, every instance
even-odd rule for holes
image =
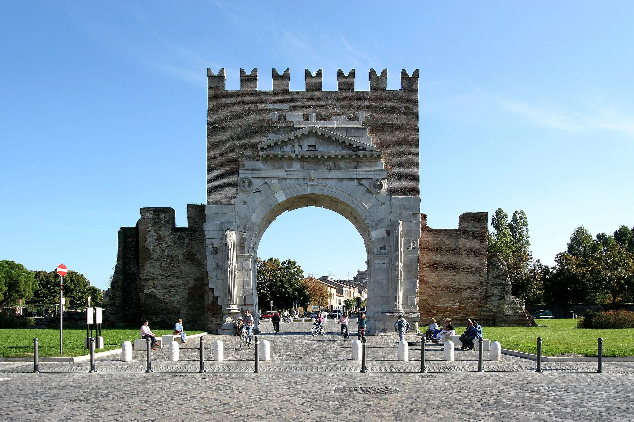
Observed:
[[[355,91],[354,71],[340,71],[339,90],[328,92],[321,71],[307,72],[307,89],[293,92],[288,70],[274,70],[273,90],[260,91],[257,72],[242,71],[240,90],[228,91],[224,71],[209,71],[204,227],[225,321],[257,312],[259,240],[278,215],[306,206],[341,214],[363,237],[368,331],[391,332],[399,314],[420,320],[417,73],[403,72],[398,91],[385,77],[371,73],[370,91]]]

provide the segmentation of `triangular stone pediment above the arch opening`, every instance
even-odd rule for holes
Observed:
[[[373,145],[314,126],[260,142],[257,144],[257,149],[260,152],[293,152],[294,154],[320,150],[323,152],[377,151]]]

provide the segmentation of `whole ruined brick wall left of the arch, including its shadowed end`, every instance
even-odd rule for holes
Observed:
[[[205,314],[204,205],[188,205],[188,227],[176,227],[172,208],[141,208],[136,227],[119,231],[119,258],[110,291],[108,319],[118,323],[207,328]]]

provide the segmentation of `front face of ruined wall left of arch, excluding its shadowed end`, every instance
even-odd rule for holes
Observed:
[[[139,305],[154,326],[204,330],[207,280],[204,205],[188,205],[188,227],[177,228],[174,209],[141,208],[138,222]]]

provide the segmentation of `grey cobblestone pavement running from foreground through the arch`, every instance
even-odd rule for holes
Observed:
[[[145,373],[145,351],[134,361],[120,355],[89,363],[0,363],[1,421],[404,421],[444,416],[467,421],[633,421],[634,364],[543,363],[503,356],[484,361],[477,352],[456,351],[442,360],[442,347],[427,345],[427,372],[420,370],[420,337],[408,336],[410,359],[398,361],[398,337],[368,337],[368,373],[351,360],[352,342],[338,326],[327,335],[307,333],[311,323],[282,324],[261,339],[271,342],[271,361],[253,373],[254,349],[240,351],[238,337],[205,336],[205,370],[198,373],[199,341],[181,345],[179,362],[167,347],[152,351],[153,373]],[[104,332],[107,335],[107,332]],[[225,361],[215,362],[214,340],[223,340]],[[484,357],[488,357],[485,353]],[[335,394],[335,387],[396,388],[398,394]],[[432,404],[429,404],[432,403]],[[433,404],[436,403],[436,404]]]

